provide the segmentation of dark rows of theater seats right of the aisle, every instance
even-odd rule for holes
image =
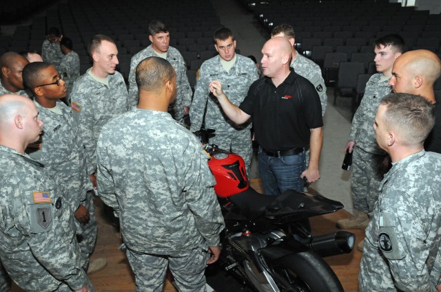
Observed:
[[[281,23],[292,25],[298,52],[320,66],[325,84],[334,87],[334,102],[340,96],[353,98],[353,112],[367,80],[376,73],[376,38],[400,34],[407,49],[429,49],[441,56],[441,15],[426,10],[387,0],[238,1],[254,13],[265,32]],[[435,90],[441,92],[440,80]]]

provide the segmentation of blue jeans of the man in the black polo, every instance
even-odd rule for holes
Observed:
[[[300,175],[306,169],[305,151],[298,155],[271,157],[260,148],[259,175],[265,194],[281,194],[285,190],[303,191],[305,181]]]

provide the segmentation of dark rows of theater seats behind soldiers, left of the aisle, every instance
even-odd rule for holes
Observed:
[[[205,0],[170,0],[167,5],[108,0],[105,6],[88,0],[68,0],[48,9],[46,16],[35,16],[32,25],[18,26],[14,35],[0,36],[0,54],[9,50],[40,52],[48,29],[58,27],[64,36],[72,39],[83,74],[92,64],[87,52],[90,38],[94,34],[106,34],[116,41],[118,69],[127,79],[132,56],[150,45],[148,24],[153,19],[169,25],[170,45],[181,52],[188,75],[195,80],[203,60],[216,55],[212,36],[222,26],[211,1]]]

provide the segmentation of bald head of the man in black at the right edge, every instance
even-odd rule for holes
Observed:
[[[440,74],[440,58],[427,49],[417,49],[395,60],[389,85],[395,92],[419,94],[434,101],[433,84]]]

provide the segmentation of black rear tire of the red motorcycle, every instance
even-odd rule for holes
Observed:
[[[283,256],[271,269],[280,291],[345,292],[336,273],[312,251]]]

